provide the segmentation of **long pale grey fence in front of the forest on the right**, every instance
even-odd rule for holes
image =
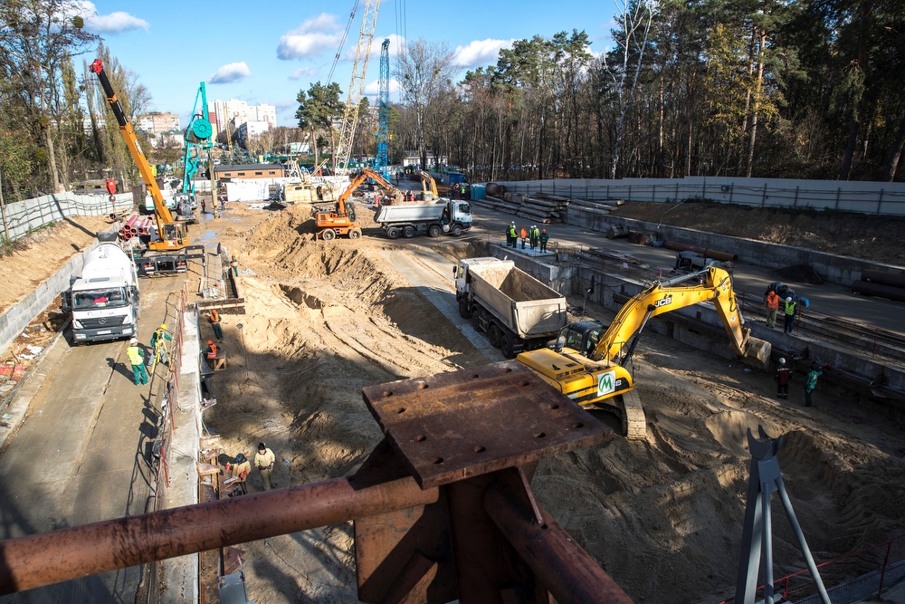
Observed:
[[[526,195],[542,192],[594,200],[653,202],[692,198],[743,206],[811,207],[905,216],[905,183],[735,177],[570,178],[496,182],[505,185],[510,193]]]

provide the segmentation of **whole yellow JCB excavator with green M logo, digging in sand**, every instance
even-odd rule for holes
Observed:
[[[697,283],[685,284],[691,281]],[[736,354],[767,363],[770,342],[751,337],[738,310],[732,279],[716,266],[655,282],[625,302],[609,327],[599,321],[571,323],[560,332],[555,349],[522,352],[516,359],[582,407],[614,408],[622,416],[625,436],[643,439],[644,411],[625,365],[647,321],[701,302],[713,302]]]

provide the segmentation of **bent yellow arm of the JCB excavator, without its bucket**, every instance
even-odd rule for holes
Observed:
[[[681,283],[699,281],[693,285]],[[699,273],[681,275],[669,281],[657,282],[626,302],[616,314],[609,328],[600,337],[595,349],[588,355],[591,360],[611,361],[635,333],[643,330],[652,317],[700,304],[713,302],[723,327],[729,333],[736,353],[748,356],[750,330],[742,324],[732,279],[721,268],[709,266]],[[636,341],[636,340],[635,340]],[[629,349],[630,355],[634,345]],[[756,354],[759,358],[759,353]]]

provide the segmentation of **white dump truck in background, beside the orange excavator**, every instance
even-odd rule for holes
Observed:
[[[452,199],[421,206],[380,206],[375,221],[390,239],[444,233],[458,237],[472,228],[472,206]]]

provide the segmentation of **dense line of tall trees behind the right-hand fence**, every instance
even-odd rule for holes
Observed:
[[[605,52],[534,36],[462,81],[445,43],[414,41],[391,154],[475,180],[903,179],[900,0],[628,0],[614,23]]]

